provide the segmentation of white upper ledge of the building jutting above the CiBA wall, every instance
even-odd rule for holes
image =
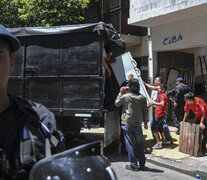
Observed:
[[[179,19],[189,19],[206,14],[206,8],[202,7],[206,3],[207,0],[130,0],[128,22],[153,27]]]

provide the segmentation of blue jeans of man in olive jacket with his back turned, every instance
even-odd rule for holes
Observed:
[[[144,154],[144,140],[143,140],[142,127],[122,125],[122,129],[123,129],[130,165],[134,168],[138,168],[137,165],[137,160],[138,160],[139,166],[141,168],[144,167],[146,158]],[[135,146],[137,146],[137,148]],[[137,156],[137,159],[135,154]]]

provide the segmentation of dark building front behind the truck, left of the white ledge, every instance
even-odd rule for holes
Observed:
[[[130,51],[142,71],[143,79],[148,78],[147,28],[128,24],[129,0],[91,1],[85,11],[85,23],[103,21],[111,23],[126,42],[126,51]]]

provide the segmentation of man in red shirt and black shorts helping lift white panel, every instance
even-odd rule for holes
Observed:
[[[167,109],[167,95],[165,94],[166,86],[161,84],[158,88],[158,98],[156,102],[151,102],[150,106],[155,105],[155,119],[152,123],[152,132],[156,139],[156,144],[152,147],[153,149],[161,149],[162,143],[160,142],[159,134],[162,136],[162,142],[165,144],[165,135],[163,131],[163,121],[166,115]]]

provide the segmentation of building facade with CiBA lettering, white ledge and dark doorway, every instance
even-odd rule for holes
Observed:
[[[150,28],[153,76],[207,92],[207,0],[130,0],[128,23]]]

